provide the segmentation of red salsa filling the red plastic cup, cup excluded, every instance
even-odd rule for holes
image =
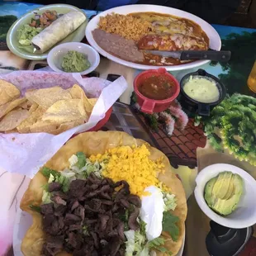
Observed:
[[[163,75],[146,78],[138,89],[145,97],[158,101],[172,97],[175,91],[173,81]]]

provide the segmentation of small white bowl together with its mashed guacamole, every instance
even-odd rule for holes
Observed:
[[[65,43],[50,50],[47,62],[55,72],[85,75],[97,68],[100,56],[90,45]]]

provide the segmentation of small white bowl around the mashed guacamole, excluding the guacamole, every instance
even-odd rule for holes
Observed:
[[[100,63],[100,55],[97,53],[97,50],[92,48],[92,46],[83,43],[70,42],[57,45],[55,48],[50,50],[47,56],[47,63],[49,64],[50,68],[55,72],[67,73],[64,72],[64,70],[61,68],[61,64],[64,55],[66,55],[69,50],[76,50],[79,53],[88,56],[88,61],[90,62],[91,66],[89,69],[86,69],[83,72],[79,72],[82,75],[91,73]]]

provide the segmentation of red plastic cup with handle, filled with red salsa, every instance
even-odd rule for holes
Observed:
[[[173,75],[160,68],[137,75],[134,90],[141,111],[152,114],[166,110],[178,97],[180,87]]]

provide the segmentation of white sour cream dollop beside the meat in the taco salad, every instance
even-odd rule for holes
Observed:
[[[146,237],[150,241],[162,233],[164,198],[158,187],[146,187],[145,192],[150,192],[150,195],[141,198],[140,219],[146,223]]]

